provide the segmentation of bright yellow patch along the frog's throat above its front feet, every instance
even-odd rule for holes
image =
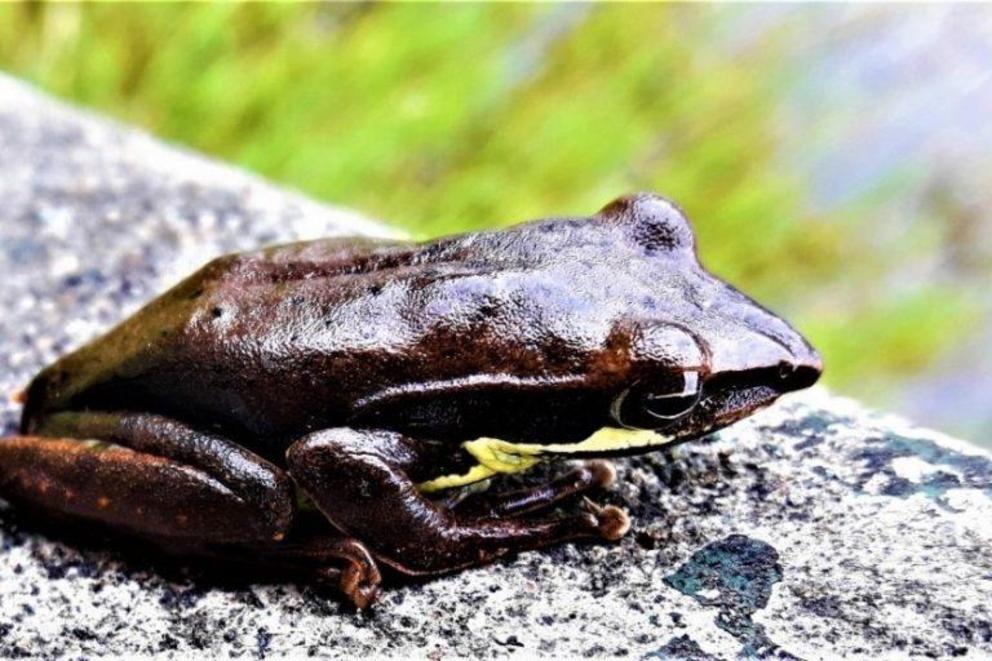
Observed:
[[[543,461],[548,455],[606,453],[631,448],[658,447],[673,439],[646,429],[603,427],[578,443],[511,443],[498,438],[477,438],[462,447],[479,463],[462,475],[443,475],[418,487],[424,493],[473,484],[494,475],[520,473]]]

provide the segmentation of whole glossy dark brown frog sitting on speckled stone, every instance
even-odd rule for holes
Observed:
[[[295,243],[214,260],[38,374],[0,495],[285,561],[363,607],[380,566],[619,539],[626,513],[583,496],[614,480],[602,457],[697,438],[820,370],[655,195],[428,243]],[[551,457],[584,462],[479,488]],[[298,535],[307,517],[322,529]]]

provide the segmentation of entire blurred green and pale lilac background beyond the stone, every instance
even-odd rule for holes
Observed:
[[[992,6],[0,5],[0,69],[416,237],[641,189],[992,447]]]

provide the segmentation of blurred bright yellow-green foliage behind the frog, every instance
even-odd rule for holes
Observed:
[[[3,5],[0,67],[415,236],[663,192],[712,270],[794,319],[829,380],[864,394],[925,366],[970,308],[939,286],[880,290],[885,260],[906,255],[859,241],[857,213],[809,211],[776,152],[795,72],[774,33],[726,38],[735,11]]]

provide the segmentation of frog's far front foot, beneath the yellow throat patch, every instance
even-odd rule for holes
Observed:
[[[505,493],[474,493],[450,503],[464,516],[519,516],[551,509],[593,489],[610,487],[617,479],[613,464],[604,459],[585,461],[551,482]]]

